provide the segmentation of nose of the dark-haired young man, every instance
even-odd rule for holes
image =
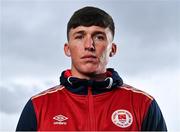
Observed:
[[[85,47],[85,50],[88,50],[88,51],[95,51],[95,47],[94,47],[94,41],[92,39],[91,36],[88,36],[85,40],[85,43],[84,43],[84,47]]]

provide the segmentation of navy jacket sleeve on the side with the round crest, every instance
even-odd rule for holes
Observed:
[[[141,128],[142,131],[167,131],[165,120],[155,99],[149,107]]]

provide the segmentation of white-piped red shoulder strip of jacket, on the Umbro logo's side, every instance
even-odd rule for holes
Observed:
[[[64,89],[64,86],[62,86],[62,85],[57,85],[57,86],[48,88],[47,90],[32,96],[31,100],[35,100],[35,99],[38,99],[38,98],[43,98],[43,97],[46,97],[46,96],[53,96],[53,95],[57,94],[59,91],[61,91],[63,89]]]

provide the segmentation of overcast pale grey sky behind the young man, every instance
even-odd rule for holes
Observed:
[[[3,0],[0,130],[15,129],[27,100],[57,85],[62,70],[70,68],[63,53],[66,24],[75,10],[88,5],[104,9],[115,21],[118,53],[108,67],[152,94],[168,128],[180,130],[174,123],[180,122],[179,0]]]

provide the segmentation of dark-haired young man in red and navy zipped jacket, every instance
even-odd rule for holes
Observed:
[[[17,131],[167,130],[155,99],[123,84],[114,69],[106,68],[116,54],[114,30],[111,16],[99,8],[73,14],[64,45],[71,69],[62,72],[60,85],[28,101]]]

